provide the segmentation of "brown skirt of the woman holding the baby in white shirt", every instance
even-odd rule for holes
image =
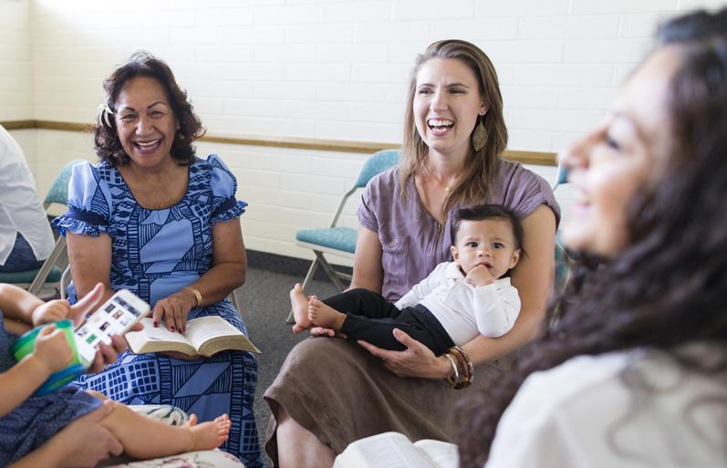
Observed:
[[[277,413],[280,407],[313,432],[333,452],[380,432],[401,432],[412,441],[452,442],[450,414],[470,392],[496,384],[504,360],[474,369],[473,386],[452,390],[442,380],[406,379],[386,369],[381,359],[339,338],[307,338],[293,348],[263,398],[273,417],[265,451],[277,466]]]

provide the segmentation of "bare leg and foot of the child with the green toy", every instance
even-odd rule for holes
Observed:
[[[90,393],[100,395],[97,392]],[[216,449],[227,440],[230,433],[230,419],[226,414],[200,424],[197,424],[197,417],[192,414],[187,424],[171,426],[147,418],[122,404],[116,405],[114,411],[100,424],[119,439],[126,454],[140,459]]]

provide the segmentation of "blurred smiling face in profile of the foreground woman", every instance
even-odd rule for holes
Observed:
[[[609,257],[628,246],[628,203],[658,182],[670,157],[667,103],[678,64],[670,47],[649,57],[603,124],[561,155],[579,195],[563,230],[568,247]]]

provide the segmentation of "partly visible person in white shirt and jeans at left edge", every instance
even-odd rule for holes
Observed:
[[[53,244],[26,157],[0,126],[0,272],[39,268]]]

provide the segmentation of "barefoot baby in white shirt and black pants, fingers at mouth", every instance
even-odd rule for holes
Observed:
[[[452,217],[453,262],[437,265],[396,304],[368,289],[319,300],[299,284],[290,292],[296,326],[330,328],[348,339],[403,350],[399,328],[437,356],[479,335],[497,338],[513,328],[520,296],[508,272],[522,255],[523,227],[502,205],[460,208]]]

